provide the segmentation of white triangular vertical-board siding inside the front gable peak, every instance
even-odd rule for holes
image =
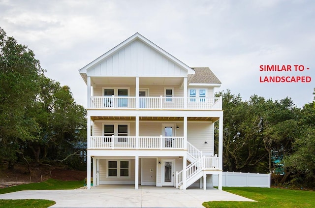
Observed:
[[[87,76],[185,77],[187,70],[146,43],[135,40],[88,69]]]

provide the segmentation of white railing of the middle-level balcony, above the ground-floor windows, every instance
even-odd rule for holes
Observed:
[[[184,137],[91,136],[90,149],[184,149]]]

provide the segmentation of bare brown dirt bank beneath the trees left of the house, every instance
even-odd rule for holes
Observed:
[[[17,164],[13,170],[8,170],[4,165],[0,166],[0,188],[13,185],[40,182],[48,178],[58,180],[84,180],[86,171],[71,170],[63,166],[32,165],[31,174],[27,166]]]

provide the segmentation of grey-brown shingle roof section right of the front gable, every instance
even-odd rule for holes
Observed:
[[[195,74],[190,80],[190,83],[207,83],[207,84],[221,84],[220,80],[210,70],[209,67],[191,67]]]

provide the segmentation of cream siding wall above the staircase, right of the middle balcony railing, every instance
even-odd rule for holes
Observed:
[[[213,125],[209,121],[189,121],[187,140],[195,148],[202,150],[204,155],[212,155],[214,152]],[[204,144],[207,141],[208,144]]]

